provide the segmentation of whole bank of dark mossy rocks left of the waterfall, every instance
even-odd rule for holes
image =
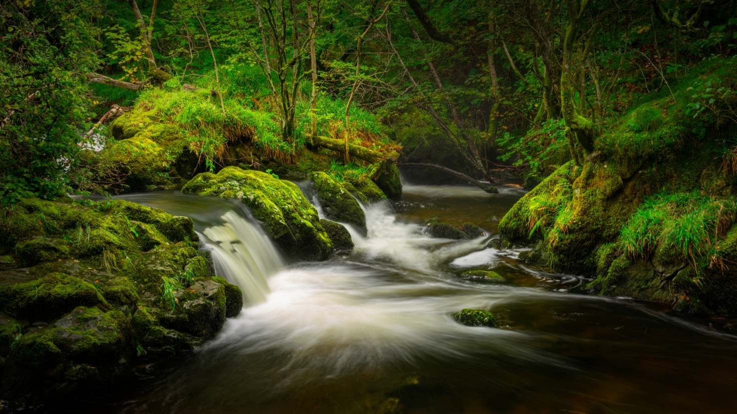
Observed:
[[[209,275],[187,217],[27,199],[0,227],[2,399],[111,384],[139,362],[191,351],[242,306],[237,287]]]

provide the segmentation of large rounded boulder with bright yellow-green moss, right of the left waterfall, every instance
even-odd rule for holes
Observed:
[[[240,200],[288,256],[321,260],[332,252],[318,212],[291,181],[228,166],[217,174],[197,175],[182,192]]]

